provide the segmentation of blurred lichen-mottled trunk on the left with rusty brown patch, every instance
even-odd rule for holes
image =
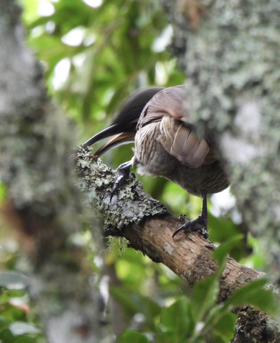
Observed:
[[[21,11],[0,1],[0,173],[2,210],[30,259],[29,290],[48,342],[100,342],[100,299],[82,247],[80,192],[69,158],[73,128],[49,100],[42,68],[24,46]],[[107,326],[108,328],[109,326]]]

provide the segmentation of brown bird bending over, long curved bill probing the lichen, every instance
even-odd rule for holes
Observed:
[[[202,197],[201,214],[175,231],[207,228],[206,195],[229,186],[222,161],[210,137],[199,138],[188,122],[188,97],[184,85],[149,87],[134,93],[124,104],[109,128],[97,133],[82,147],[115,136],[97,152],[134,142],[132,159],[117,168],[113,194],[137,165],[140,175],[163,176],[187,192]],[[111,199],[112,199],[111,196]]]

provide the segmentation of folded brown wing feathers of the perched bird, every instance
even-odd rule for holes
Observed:
[[[214,162],[215,150],[206,139],[200,139],[188,122],[188,98],[184,85],[165,88],[143,108],[137,128],[161,121],[157,138],[164,149],[182,164],[198,168]]]

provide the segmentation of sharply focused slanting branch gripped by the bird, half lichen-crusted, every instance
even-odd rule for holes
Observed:
[[[164,263],[190,286],[215,272],[217,264],[211,257],[214,249],[211,242],[194,232],[182,232],[173,239],[172,234],[182,225],[182,221],[168,214],[161,203],[151,199],[132,174],[110,202],[114,171],[88,150],[80,149],[76,159],[79,187],[85,193],[85,205],[96,211],[104,224],[104,236],[125,237],[131,247],[142,251],[155,262]],[[93,232],[95,223],[96,220],[91,223]],[[224,301],[238,287],[262,275],[264,273],[228,258],[220,280],[218,301]],[[268,342],[262,338],[263,332],[268,330],[267,315],[252,310],[250,313],[254,316],[246,318],[246,313],[249,312],[241,311],[239,314],[243,318],[242,330],[250,331],[245,325],[247,321],[250,328],[255,329],[252,337],[259,338],[259,342]],[[272,330],[269,342],[278,342],[279,339],[279,333]]]

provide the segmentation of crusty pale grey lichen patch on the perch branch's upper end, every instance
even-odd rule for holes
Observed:
[[[147,196],[132,173],[110,201],[115,171],[88,150],[78,152],[77,173],[78,186],[85,194],[84,203],[98,209],[105,234],[114,234],[114,230],[139,223],[145,217],[167,213],[163,204]]]

